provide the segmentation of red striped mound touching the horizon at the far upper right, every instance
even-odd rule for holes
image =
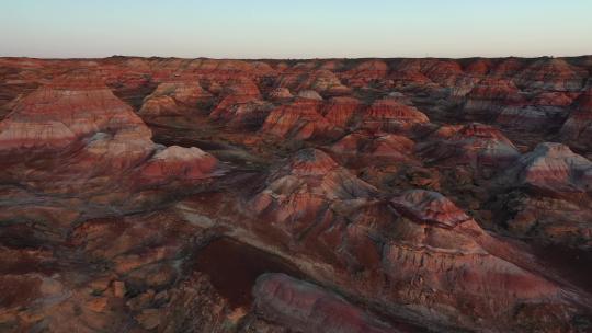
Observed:
[[[530,90],[579,91],[588,72],[563,59],[542,58],[514,77],[516,85]]]

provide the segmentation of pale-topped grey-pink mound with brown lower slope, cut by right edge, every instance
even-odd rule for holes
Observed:
[[[501,195],[501,209],[511,214],[509,230],[588,249],[592,245],[592,162],[561,143],[545,142],[520,158],[503,175],[505,186],[516,190]]]

